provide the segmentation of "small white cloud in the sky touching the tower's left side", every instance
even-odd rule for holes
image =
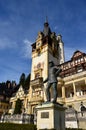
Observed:
[[[30,42],[28,39],[25,39],[23,41],[23,43],[24,43],[23,48],[22,48],[23,57],[31,58],[31,51],[32,51],[31,44],[32,44],[32,42]]]

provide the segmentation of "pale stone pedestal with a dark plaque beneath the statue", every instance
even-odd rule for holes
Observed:
[[[37,130],[65,130],[65,107],[59,104],[47,103],[38,105]]]

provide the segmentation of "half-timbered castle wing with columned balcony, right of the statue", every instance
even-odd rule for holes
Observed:
[[[59,93],[61,100],[69,107],[80,110],[81,102],[86,105],[86,54],[77,50],[71,60],[60,65],[63,86]]]

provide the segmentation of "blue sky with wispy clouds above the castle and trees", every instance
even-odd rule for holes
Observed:
[[[52,32],[61,34],[65,59],[86,53],[86,0],[0,0],[0,82],[31,70],[31,44],[46,16]]]

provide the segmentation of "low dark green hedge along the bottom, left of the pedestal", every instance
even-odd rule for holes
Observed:
[[[33,124],[0,123],[0,130],[36,130]]]

